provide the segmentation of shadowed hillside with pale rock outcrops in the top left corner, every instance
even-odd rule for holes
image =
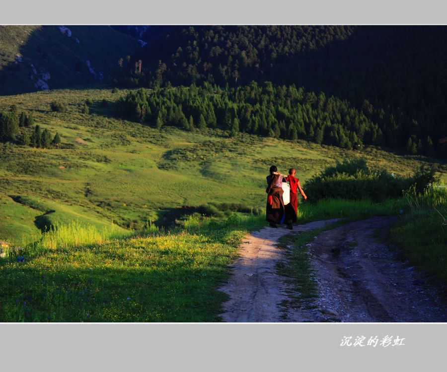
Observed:
[[[0,26],[0,94],[40,90],[35,86],[39,79],[50,89],[99,81],[99,72],[107,79],[118,59],[140,45],[109,26],[68,26],[68,30],[70,37],[59,26]]]

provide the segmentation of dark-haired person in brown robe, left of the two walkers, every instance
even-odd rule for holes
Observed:
[[[267,176],[268,186],[265,190],[267,192],[266,220],[271,227],[278,227],[277,224],[281,223],[285,213],[282,188],[284,176],[277,171],[276,166],[270,167],[270,175]]]

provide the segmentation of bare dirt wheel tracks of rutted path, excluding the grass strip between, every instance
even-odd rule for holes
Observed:
[[[286,252],[276,248],[290,230],[265,227],[248,234],[232,276],[221,288],[230,296],[222,318],[229,322],[441,322],[447,321],[445,295],[427,276],[400,259],[397,248],[380,243],[395,217],[373,217],[325,231],[309,243],[318,298],[313,309],[287,308],[293,291],[276,264]],[[334,223],[316,221],[294,227],[293,234]],[[379,230],[378,230],[379,229]],[[379,235],[380,235],[379,234]],[[291,302],[289,302],[291,304]]]

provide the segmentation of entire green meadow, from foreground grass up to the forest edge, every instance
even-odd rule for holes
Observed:
[[[218,321],[225,295],[216,289],[227,265],[242,236],[265,225],[272,164],[282,173],[296,168],[304,190],[306,180],[349,158],[400,176],[436,166],[447,181],[438,160],[372,146],[345,150],[117,119],[113,102],[128,91],[0,96],[0,111],[16,105],[62,138],[60,148],[0,144],[0,241],[10,246],[0,259],[0,321]],[[93,104],[83,114],[87,99]],[[67,110],[52,112],[52,101]],[[210,205],[224,213],[182,216],[182,207]],[[306,201],[299,209],[298,223],[412,210],[405,197]]]

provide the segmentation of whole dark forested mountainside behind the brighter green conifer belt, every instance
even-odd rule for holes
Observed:
[[[112,83],[296,84],[347,100],[391,148],[446,158],[446,43],[445,26],[173,26]]]

